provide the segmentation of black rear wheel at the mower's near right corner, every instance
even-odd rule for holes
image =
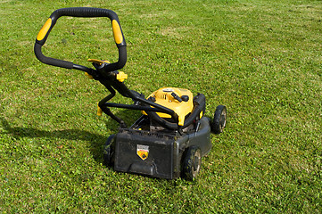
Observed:
[[[183,177],[187,180],[194,180],[202,166],[202,152],[199,147],[191,146],[186,152],[183,162]]]

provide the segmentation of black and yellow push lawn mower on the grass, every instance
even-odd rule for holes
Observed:
[[[118,62],[89,59],[94,68],[47,57],[42,53],[49,33],[62,16],[108,17],[114,41],[119,51]],[[204,116],[205,96],[193,95],[178,87],[162,87],[146,98],[125,84],[128,75],[122,69],[127,62],[126,41],[117,14],[111,10],[89,7],[62,8],[54,11],[37,34],[34,47],[37,59],[45,64],[65,69],[82,70],[99,81],[110,92],[98,103],[98,115],[107,114],[120,124],[118,133],[107,138],[103,146],[103,161],[116,171],[148,177],[194,180],[202,157],[211,151],[211,132],[219,134],[226,126],[227,110],[219,105],[213,119]],[[133,104],[109,103],[119,92]],[[141,111],[142,115],[127,126],[113,114],[111,107]]]

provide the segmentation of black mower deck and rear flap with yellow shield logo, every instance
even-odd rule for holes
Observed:
[[[186,148],[197,145],[202,156],[211,151],[210,119],[199,120],[198,130],[182,135],[120,128],[114,136],[114,169],[150,177],[180,177]]]

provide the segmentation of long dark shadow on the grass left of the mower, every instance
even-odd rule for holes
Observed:
[[[4,128],[3,134],[8,134],[14,139],[20,139],[22,137],[49,137],[66,140],[87,141],[90,143],[89,151],[92,153],[95,161],[102,162],[102,146],[108,136],[102,136],[78,129],[45,131],[39,130],[37,128],[12,127],[10,123],[4,118],[0,118],[0,122],[2,127]]]

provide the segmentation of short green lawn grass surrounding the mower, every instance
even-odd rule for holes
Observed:
[[[208,117],[227,105],[227,129],[212,136],[196,181],[103,166],[118,128],[95,115],[106,90],[33,53],[47,17],[70,6],[119,14],[131,89],[203,93]],[[318,0],[0,1],[0,212],[320,213],[321,12]],[[44,53],[87,66],[117,60],[101,18],[61,18]],[[128,123],[139,116],[114,112]]]

